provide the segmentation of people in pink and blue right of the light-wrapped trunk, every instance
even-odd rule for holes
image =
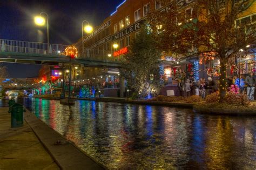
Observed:
[[[230,76],[227,78],[227,90],[232,91],[235,94],[238,93],[246,93],[247,98],[250,101],[254,100],[254,89],[255,89],[255,77],[254,73],[251,72],[249,76],[246,78],[244,76],[240,76],[238,78],[237,76]]]

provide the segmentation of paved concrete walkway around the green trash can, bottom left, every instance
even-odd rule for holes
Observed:
[[[11,128],[8,108],[0,108],[0,169],[60,169],[24,121]]]

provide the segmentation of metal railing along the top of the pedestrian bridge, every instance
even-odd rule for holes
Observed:
[[[64,55],[64,51],[68,46],[69,45],[50,44],[48,47],[47,43],[0,39],[1,52],[17,52],[58,56]],[[113,53],[107,50],[84,49],[84,53],[82,47],[77,47],[77,50],[77,58],[79,59],[89,59],[103,62],[120,62],[123,59],[123,57],[113,57]]]

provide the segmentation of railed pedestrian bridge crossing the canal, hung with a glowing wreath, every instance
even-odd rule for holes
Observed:
[[[65,56],[69,45],[24,42],[19,40],[0,39],[0,62],[62,65],[82,64],[85,67],[120,67],[122,57],[113,57],[111,51],[86,50],[76,47],[75,59]],[[111,55],[111,57],[109,57]]]

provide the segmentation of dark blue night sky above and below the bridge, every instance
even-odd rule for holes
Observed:
[[[34,17],[40,12],[49,15],[50,43],[72,44],[82,37],[82,21],[97,26],[110,16],[123,0],[0,0],[0,39],[47,43],[45,28],[36,26]],[[38,75],[40,65],[5,64],[10,77]]]

